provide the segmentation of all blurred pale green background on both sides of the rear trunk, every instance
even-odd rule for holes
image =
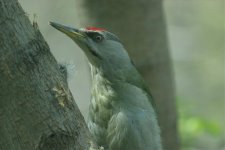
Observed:
[[[87,59],[69,38],[48,25],[56,21],[81,27],[85,14],[78,11],[80,1],[19,1],[31,21],[38,22],[56,59],[75,65],[70,89],[86,117],[90,99]],[[225,1],[165,0],[164,14],[182,150],[225,150]]]

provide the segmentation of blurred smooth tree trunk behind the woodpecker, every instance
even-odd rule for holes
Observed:
[[[173,71],[161,0],[85,0],[85,25],[105,27],[123,41],[156,101],[165,150],[178,150]],[[81,10],[82,11],[82,10]]]

